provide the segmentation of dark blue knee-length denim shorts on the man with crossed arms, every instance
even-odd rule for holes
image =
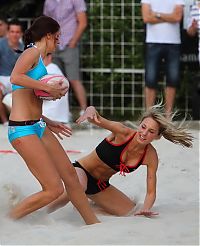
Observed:
[[[162,60],[165,62],[166,85],[178,87],[180,77],[179,44],[146,44],[145,85],[156,89]]]

